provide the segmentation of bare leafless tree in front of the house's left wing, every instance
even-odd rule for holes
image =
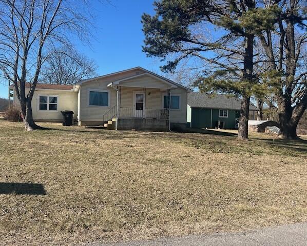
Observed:
[[[73,0],[0,0],[0,71],[14,85],[25,130],[39,129],[31,101],[46,47],[67,45],[74,35],[88,36],[87,2]],[[31,83],[28,92],[25,83]]]

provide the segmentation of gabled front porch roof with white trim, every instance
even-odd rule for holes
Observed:
[[[124,87],[142,87],[156,88],[161,90],[176,89],[177,85],[170,83],[168,80],[156,76],[151,73],[141,73],[127,78],[119,79],[108,84],[108,87],[116,88],[117,86]]]

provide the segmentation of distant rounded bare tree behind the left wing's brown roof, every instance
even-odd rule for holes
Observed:
[[[48,56],[42,67],[40,81],[57,85],[73,85],[81,79],[97,75],[93,60],[75,49],[62,48]]]

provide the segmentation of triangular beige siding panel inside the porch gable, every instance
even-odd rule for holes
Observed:
[[[144,74],[135,78],[130,78],[120,82],[120,86],[128,87],[142,87],[146,85],[147,88],[168,89],[169,85],[158,78],[154,78],[148,74]]]

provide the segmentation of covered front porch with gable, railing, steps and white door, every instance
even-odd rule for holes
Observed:
[[[143,74],[115,81],[108,87],[117,91],[116,105],[104,115],[112,129],[169,130],[169,98],[177,86]]]

